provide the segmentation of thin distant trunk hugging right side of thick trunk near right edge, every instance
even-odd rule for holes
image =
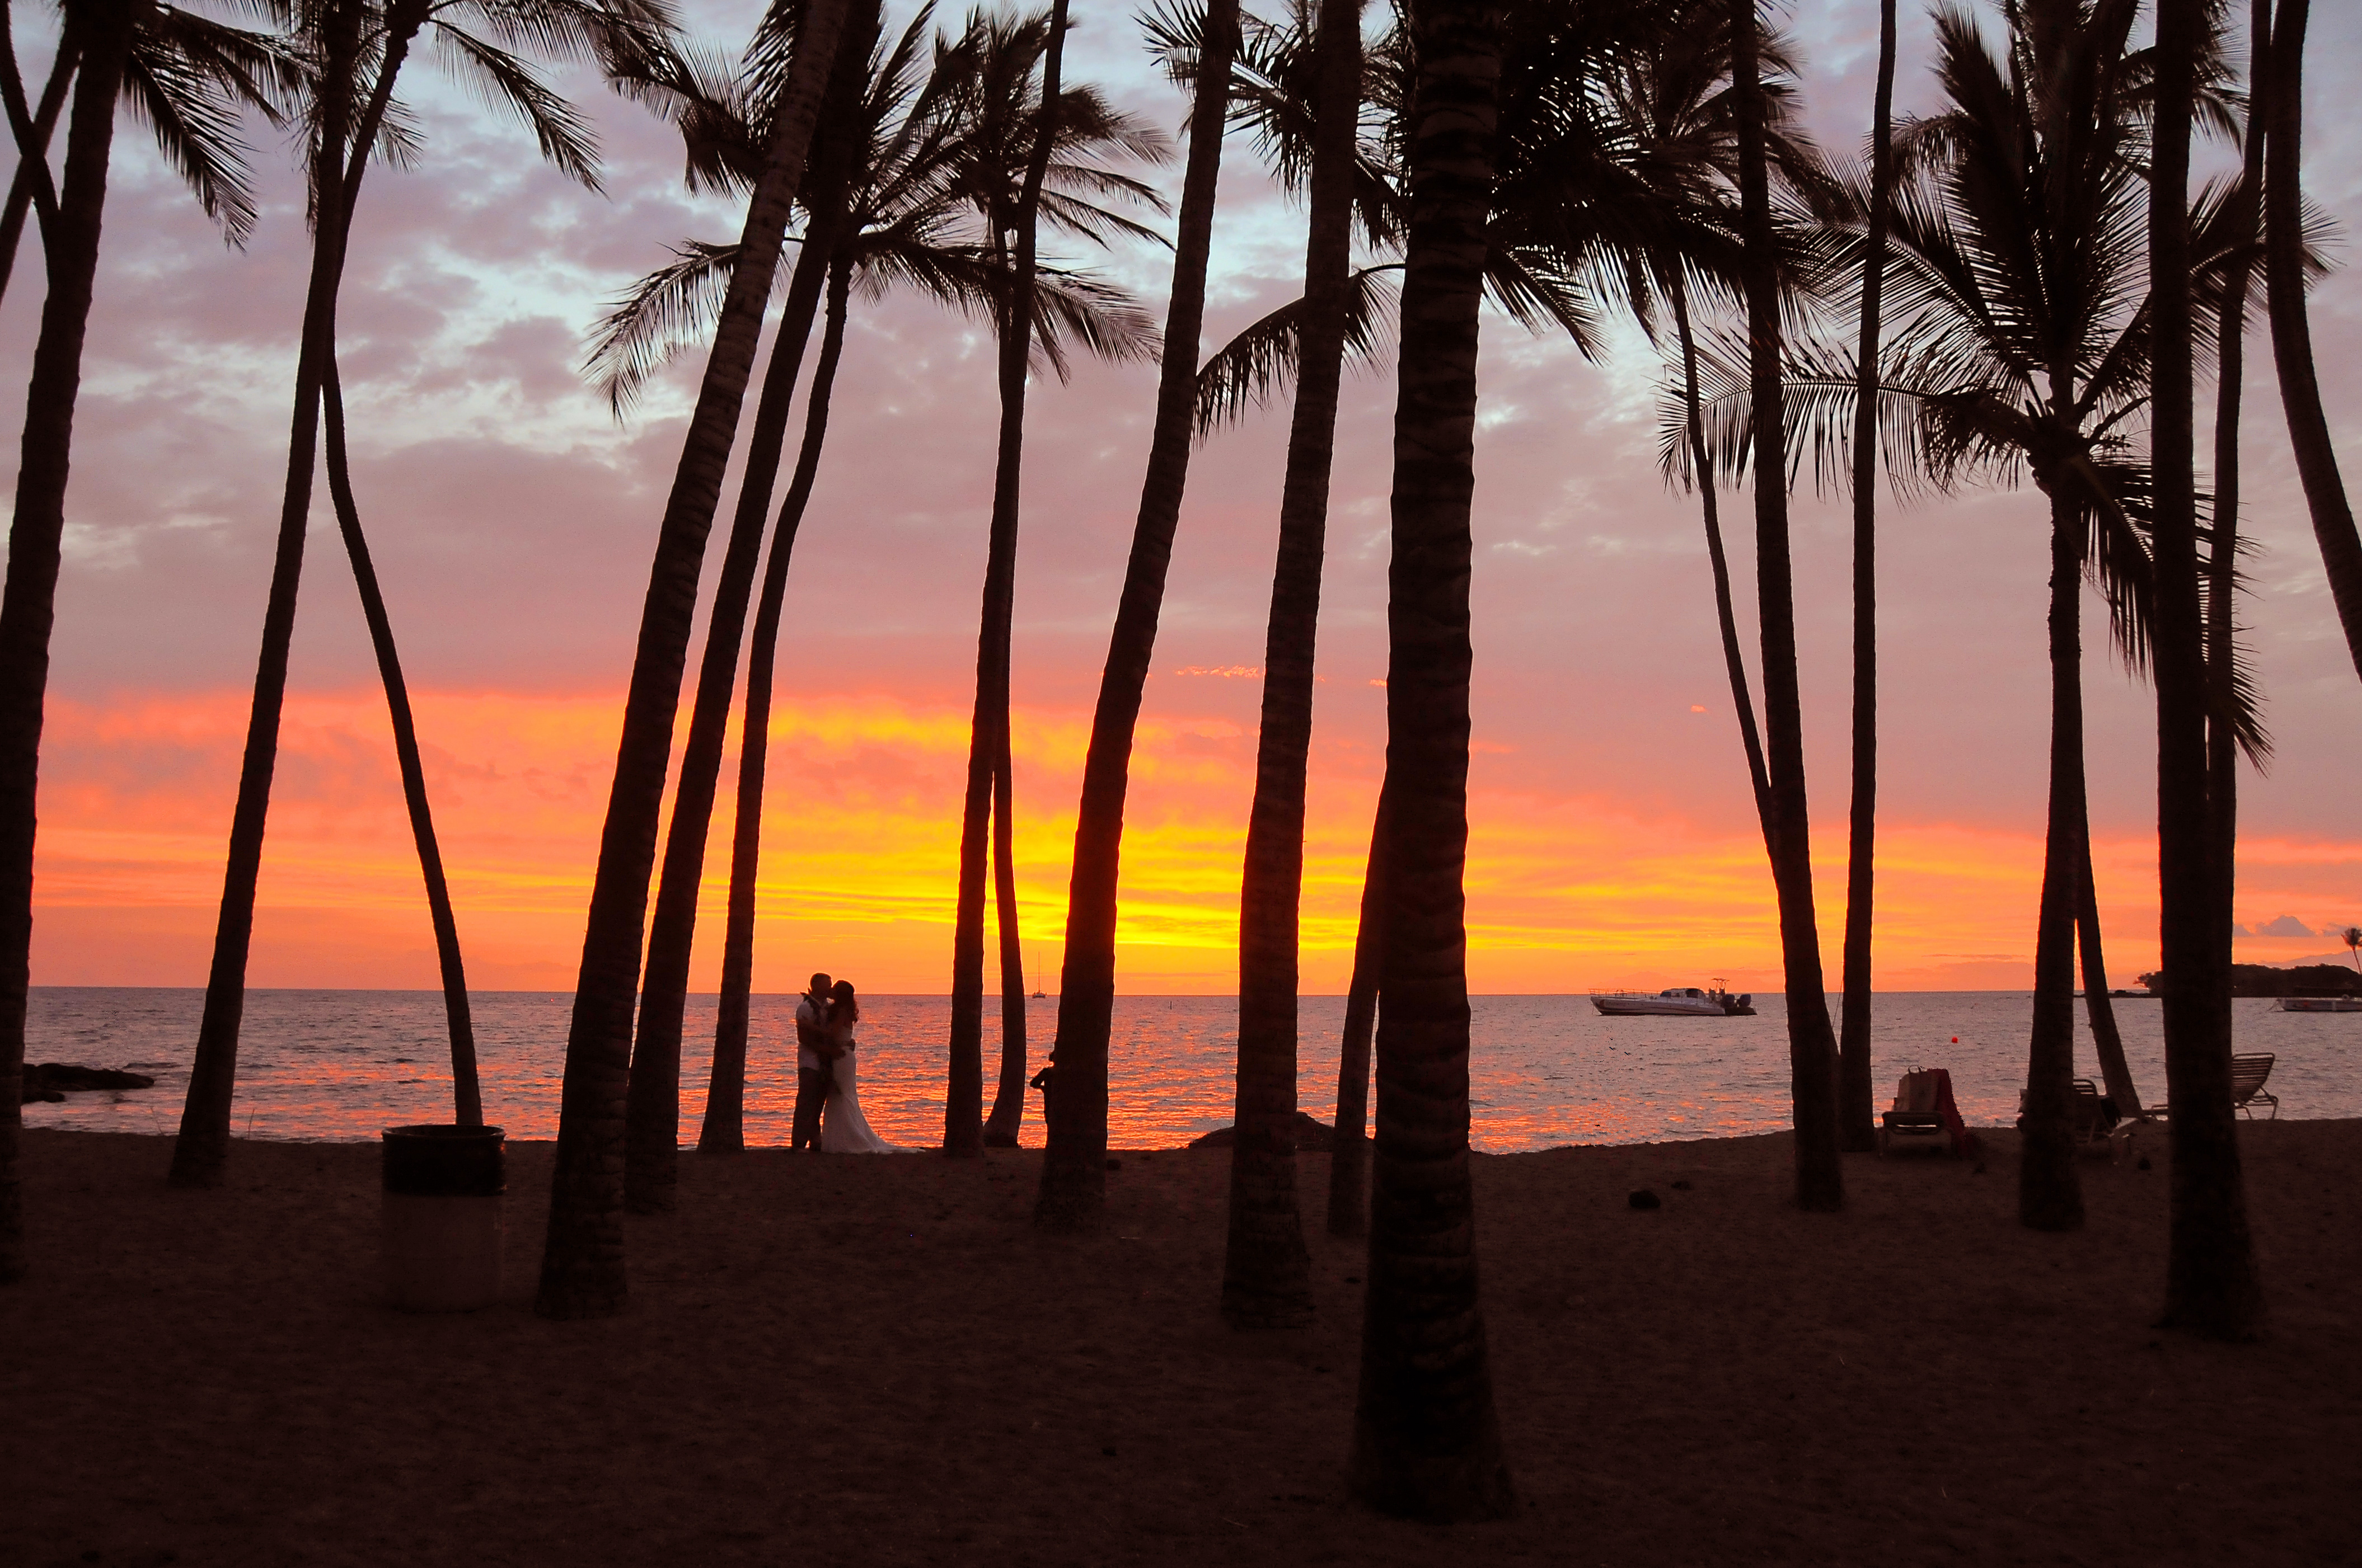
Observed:
[[[2263,229],[2263,153],[2272,104],[2272,0],[2249,7],[2246,139],[2232,234],[2246,243]],[[2230,952],[2232,900],[2239,881],[2239,741],[2230,723],[2232,671],[2239,659],[2239,404],[2246,394],[2246,300],[2253,267],[2242,257],[2216,316],[2213,538],[2206,557],[2206,810],[2213,827],[2213,940]]]

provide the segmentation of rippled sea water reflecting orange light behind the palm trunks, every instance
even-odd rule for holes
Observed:
[[[198,989],[35,987],[28,1058],[156,1074],[154,1089],[78,1093],[26,1105],[33,1126],[175,1131],[203,1004]],[[557,1086],[572,997],[484,992],[475,1034],[484,1119],[513,1138],[557,1131]],[[787,1143],[796,1098],[794,997],[753,999],[746,1141]],[[1476,997],[1474,1143],[1509,1152],[1561,1143],[1729,1138],[1788,1124],[1788,1034],[1781,999],[1757,1018],[1601,1018],[1587,997]],[[2272,1091],[2289,1117],[2362,1117],[2362,1013],[2279,1013],[2239,1001],[2237,1048],[2272,1051]],[[997,1013],[997,1004],[987,1008]],[[1835,1001],[1831,1001],[1835,1011]],[[2164,1098],[2157,1001],[2119,1001],[2133,1077]],[[1894,992],[1878,999],[1880,1105],[1906,1067],[1949,1067],[1963,1115],[1979,1126],[2017,1115],[2031,997],[2024,992]],[[1301,1105],[1327,1119],[1337,1100],[1342,997],[1306,997]],[[999,1060],[987,1020],[985,1089]],[[1035,1060],[1056,1001],[1035,1001]],[[942,1138],[945,997],[862,999],[862,1108],[888,1141]],[[2100,1077],[2079,1015],[2076,1072]],[[704,1112],[713,999],[692,997],[683,1060],[683,1143]],[[1226,997],[1124,997],[1115,1004],[1110,1141],[1169,1148],[1231,1119],[1238,1004]],[[248,992],[234,1131],[253,1138],[373,1141],[380,1126],[449,1122],[449,1046],[439,992]],[[1039,1096],[1025,1143],[1039,1143]]]

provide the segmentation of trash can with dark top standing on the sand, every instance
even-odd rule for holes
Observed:
[[[387,1126],[385,1301],[406,1313],[472,1313],[501,1299],[498,1126]]]

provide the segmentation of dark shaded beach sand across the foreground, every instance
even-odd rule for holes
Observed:
[[[2161,1136],[2083,1164],[2081,1235],[2015,1226],[2010,1133],[1989,1174],[1849,1157],[1835,1219],[1779,1136],[1479,1157],[1521,1504],[1438,1530],[1342,1488],[1358,1244],[1311,1237],[1318,1327],[1221,1327],[1224,1152],[1124,1155],[1091,1240],[1032,1233],[1032,1152],[685,1155],[631,1311],[550,1325],[548,1145],[508,1299],[409,1318],[373,1148],[170,1193],[161,1138],[28,1131],[0,1561],[2350,1561],[2362,1122],[2244,1138],[2256,1346],[2152,1327]]]

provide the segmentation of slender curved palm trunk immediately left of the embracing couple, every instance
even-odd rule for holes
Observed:
[[[730,831],[730,921],[723,935],[723,994],[713,1025],[713,1077],[706,1084],[706,1119],[697,1131],[699,1155],[737,1155],[746,1148],[746,1015],[753,1004],[753,904],[763,862],[763,767],[770,758],[770,690],[779,661],[779,612],[787,602],[787,567],[796,555],[796,531],[820,475],[820,449],[829,435],[829,392],[836,361],[846,352],[846,309],[853,264],[839,255],[829,267],[829,319],[820,333],[820,359],[803,401],[803,446],[796,475],[772,524],[763,597],[753,612],[746,649],[746,716],[739,727],[737,815]]]

